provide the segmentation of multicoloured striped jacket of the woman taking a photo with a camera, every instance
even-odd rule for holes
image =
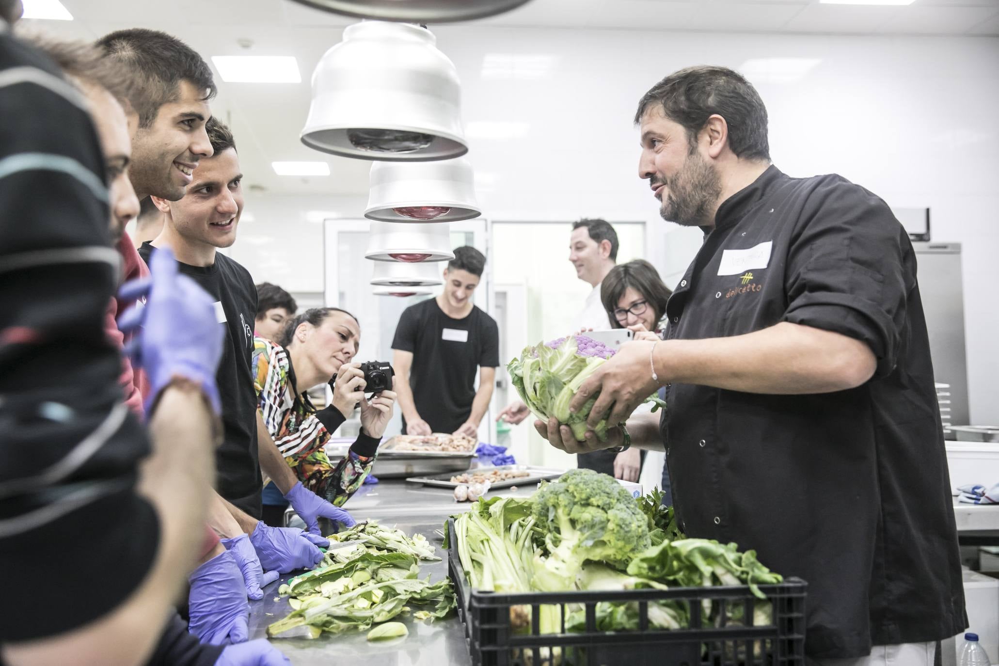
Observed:
[[[375,462],[374,451],[369,456],[357,450],[362,440],[372,437],[360,435],[348,455],[334,464],[325,446],[344,417],[333,406],[317,410],[307,394],[297,392],[294,371],[285,347],[263,337],[255,338],[254,386],[268,432],[302,485],[343,506],[364,483]],[[377,440],[372,442],[374,446]]]

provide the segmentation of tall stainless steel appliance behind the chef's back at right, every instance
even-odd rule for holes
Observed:
[[[964,348],[964,289],[960,243],[913,243],[919,293],[930,336],[933,374],[944,427],[968,415],[968,365]],[[948,438],[953,435],[945,430]]]

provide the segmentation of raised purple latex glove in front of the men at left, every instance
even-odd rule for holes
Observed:
[[[153,252],[148,279],[122,286],[119,298],[133,301],[145,297],[118,320],[118,330],[135,333],[126,350],[132,363],[146,370],[152,390],[146,411],[176,376],[201,385],[215,413],[222,412],[215,372],[222,357],[224,327],[219,325],[212,297],[197,283],[178,273],[169,248]]]

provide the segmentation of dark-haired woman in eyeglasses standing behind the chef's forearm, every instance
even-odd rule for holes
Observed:
[[[659,278],[659,273],[648,262],[636,259],[619,264],[600,285],[600,302],[607,311],[610,326],[614,329],[628,329],[634,332],[634,339],[657,340],[662,338],[665,329],[666,301],[672,290]],[[660,396],[664,389],[660,389]],[[639,409],[640,411],[641,409]],[[663,492],[663,502],[672,504],[669,470],[665,465],[665,453],[646,451],[644,463],[639,451],[629,448],[614,459],[614,471],[621,464],[624,477],[637,478],[644,488],[659,486]],[[640,471],[639,471],[640,470]],[[617,475],[616,473],[614,474]]]

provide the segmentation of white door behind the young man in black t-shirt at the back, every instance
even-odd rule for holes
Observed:
[[[407,298],[374,296],[371,286],[375,263],[365,259],[368,249],[370,221],[326,220],[323,224],[325,300],[328,308],[341,308],[354,315],[361,324],[361,344],[357,358],[366,360],[392,360],[392,339],[403,311],[433,296]],[[486,255],[486,272],[476,290],[476,305],[491,316],[494,314],[493,257],[491,225],[488,220],[467,220],[451,223],[452,247],[472,246]],[[446,268],[441,263],[441,271]],[[480,439],[496,440],[493,423],[495,408],[483,418]],[[402,416],[396,409],[386,435],[399,434],[403,427]]]

